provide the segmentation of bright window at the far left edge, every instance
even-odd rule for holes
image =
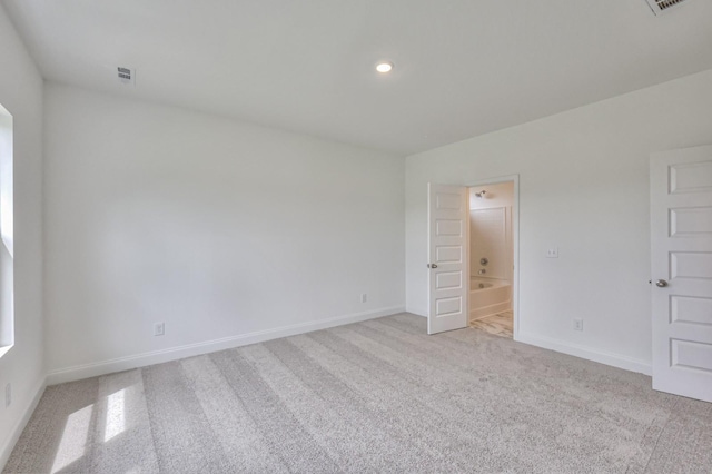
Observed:
[[[14,344],[12,116],[0,106],[0,357]]]

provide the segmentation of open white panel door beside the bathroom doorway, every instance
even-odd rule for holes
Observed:
[[[436,334],[467,327],[469,206],[463,186],[428,184],[427,189],[427,334]]]

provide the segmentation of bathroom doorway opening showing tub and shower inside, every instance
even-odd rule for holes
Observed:
[[[469,326],[514,338],[516,179],[469,186]]]

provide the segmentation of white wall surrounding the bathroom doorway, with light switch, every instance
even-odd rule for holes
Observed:
[[[649,156],[703,144],[712,71],[406,158],[408,310],[427,307],[426,184],[518,174],[521,339],[649,371]]]

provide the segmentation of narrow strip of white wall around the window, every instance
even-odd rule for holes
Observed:
[[[0,6],[0,103],[13,117],[14,347],[0,357],[0,470],[44,382],[42,78]],[[12,404],[4,407],[4,387]]]

